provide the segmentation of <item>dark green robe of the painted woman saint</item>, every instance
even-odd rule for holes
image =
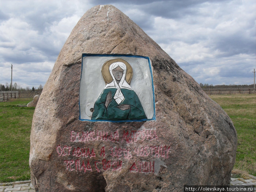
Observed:
[[[109,103],[108,108],[105,106],[106,96],[111,91],[112,101]],[[104,89],[101,95],[97,98],[94,104],[94,112],[92,114],[92,120],[138,120],[146,119],[146,114],[143,110],[143,107],[140,103],[140,100],[137,94],[133,90],[121,89],[124,100],[119,105],[130,105],[130,109],[121,110],[118,109],[117,102],[113,98],[117,89],[110,88]]]

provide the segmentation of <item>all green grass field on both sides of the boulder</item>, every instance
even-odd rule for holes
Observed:
[[[256,94],[210,95],[227,112],[238,135],[234,169],[256,176]],[[35,108],[30,99],[0,102],[0,182],[30,179],[30,131]]]

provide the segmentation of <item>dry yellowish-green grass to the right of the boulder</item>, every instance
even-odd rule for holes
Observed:
[[[210,95],[229,115],[237,131],[234,169],[256,176],[256,94]]]

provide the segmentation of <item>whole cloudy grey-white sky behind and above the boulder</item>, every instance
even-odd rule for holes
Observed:
[[[82,15],[112,4],[198,83],[253,84],[255,0],[0,0],[0,83],[44,86]]]

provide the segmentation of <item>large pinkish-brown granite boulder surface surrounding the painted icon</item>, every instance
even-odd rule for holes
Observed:
[[[80,121],[82,53],[149,57],[156,121]],[[121,11],[98,5],[74,27],[35,108],[31,180],[39,191],[228,185],[236,146],[230,118],[195,80]]]

